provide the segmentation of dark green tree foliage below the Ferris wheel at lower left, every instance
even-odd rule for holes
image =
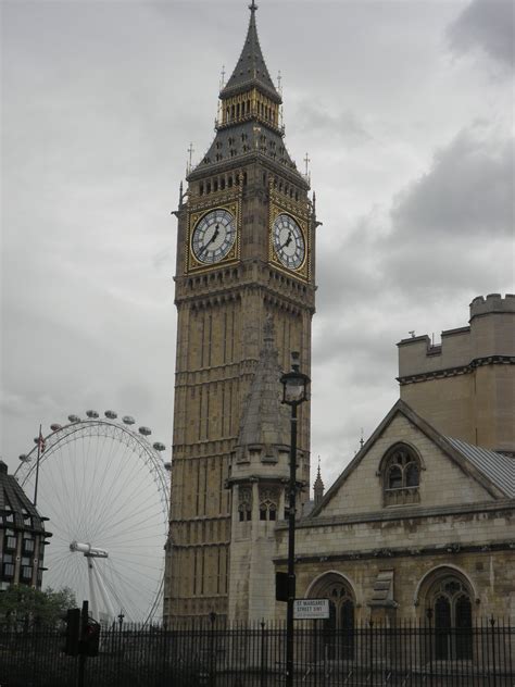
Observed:
[[[0,592],[0,622],[18,627],[58,627],[66,610],[76,605],[75,595],[64,587],[45,591],[25,585],[12,585]]]

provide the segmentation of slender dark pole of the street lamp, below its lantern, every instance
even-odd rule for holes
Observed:
[[[293,687],[293,601],[296,598],[297,403],[290,419],[290,499],[288,507],[288,607],[286,611],[286,687]]]

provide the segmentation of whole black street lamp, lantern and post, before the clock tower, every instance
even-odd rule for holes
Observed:
[[[286,687],[293,687],[293,601],[296,598],[297,408],[307,400],[310,377],[299,371],[299,353],[291,353],[291,372],[285,373],[282,403],[291,408],[290,479],[288,502],[288,605],[286,612]]]

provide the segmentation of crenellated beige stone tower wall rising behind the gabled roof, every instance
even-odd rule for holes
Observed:
[[[399,347],[401,399],[448,436],[515,452],[515,296],[470,303],[468,327]]]

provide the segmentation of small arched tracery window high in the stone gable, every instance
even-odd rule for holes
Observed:
[[[405,444],[392,447],[384,455],[379,473],[385,505],[419,502],[420,461],[411,447]]]

